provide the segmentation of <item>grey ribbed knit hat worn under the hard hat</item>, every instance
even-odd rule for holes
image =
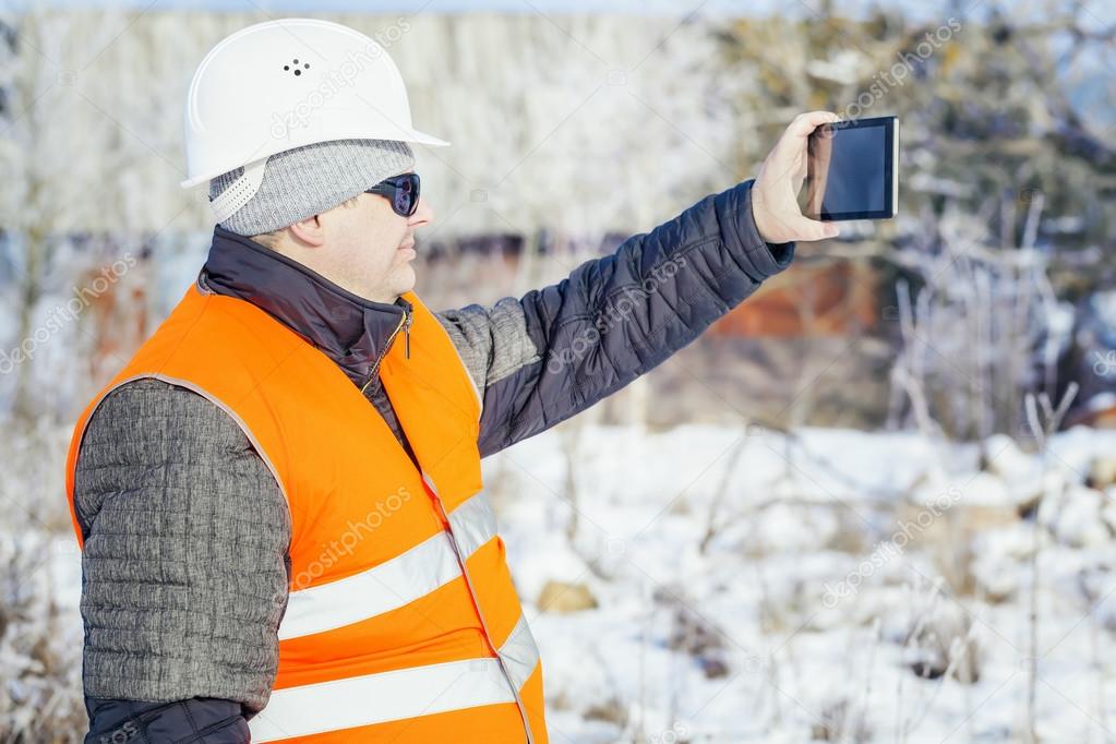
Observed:
[[[219,224],[247,236],[279,230],[413,168],[411,146],[394,139],[335,139],[287,149],[267,160],[259,189]],[[240,167],[210,180],[210,201],[246,187],[242,175]]]

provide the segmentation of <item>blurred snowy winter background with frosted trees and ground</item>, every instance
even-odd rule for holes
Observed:
[[[372,8],[0,4],[0,741],[80,741],[73,422],[204,260],[190,76],[276,15],[379,39],[453,142],[437,308],[751,177],[800,110],[902,119],[898,219],[485,461],[552,741],[1116,741],[1110,2]]]

